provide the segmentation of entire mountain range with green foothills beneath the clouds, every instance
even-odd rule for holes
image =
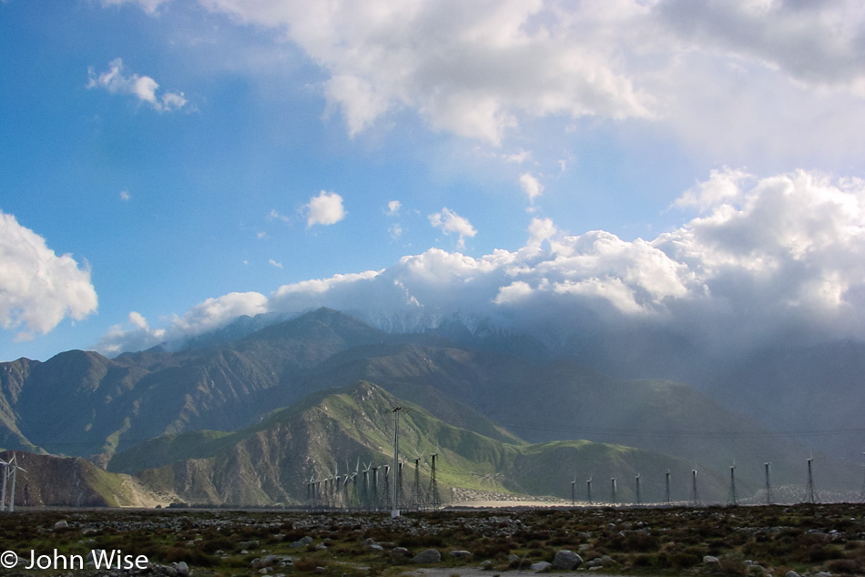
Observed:
[[[815,364],[812,357],[812,374]],[[0,446],[128,475],[100,485],[103,493],[134,486],[139,496],[123,502],[299,503],[312,478],[390,462],[390,411],[405,405],[402,457],[411,469],[415,455],[428,461],[438,452],[443,491],[568,498],[571,481],[618,476],[625,499],[640,474],[658,499],[669,470],[685,499],[683,483],[697,469],[704,498],[723,501],[734,463],[740,491],[763,486],[767,461],[774,482],[804,483],[811,453],[789,433],[798,428],[778,430],[748,410],[759,377],[777,382],[783,367],[776,356],[739,368],[723,389],[737,391],[728,402],[717,393],[719,371],[700,388],[623,379],[524,335],[457,322],[393,334],[318,309],[239,319],[178,351],[107,359],[71,350],[0,363]],[[839,383],[859,369],[846,367]],[[785,400],[776,413],[795,419],[801,405]],[[831,454],[817,462],[822,488],[859,490],[859,468]],[[45,474],[47,484],[63,482]]]

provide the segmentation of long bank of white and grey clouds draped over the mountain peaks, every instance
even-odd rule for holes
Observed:
[[[208,299],[163,329],[117,327],[107,352],[185,339],[239,315],[350,310],[392,331],[463,316],[555,342],[577,330],[672,331],[705,347],[862,339],[865,183],[733,170],[679,197],[698,215],[652,240],[569,235],[534,218],[523,248],[473,258],[430,248],[390,268]],[[481,231],[480,234],[483,234]]]

